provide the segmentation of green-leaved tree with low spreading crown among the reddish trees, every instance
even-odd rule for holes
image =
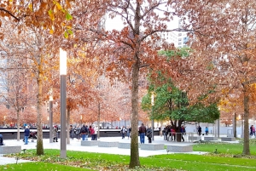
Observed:
[[[158,85],[151,84],[148,94],[143,97],[142,107],[148,111],[149,116],[158,120],[170,120],[172,128],[180,133],[184,123],[200,122],[213,123],[219,117],[217,103],[204,105],[201,100],[189,105],[186,92],[179,90],[172,82],[172,78],[158,77]],[[151,94],[155,94],[154,106],[151,105]],[[181,141],[180,134],[177,140]]]

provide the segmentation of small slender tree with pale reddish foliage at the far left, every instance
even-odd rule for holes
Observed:
[[[2,85],[3,92],[1,98],[15,110],[16,117],[13,122],[17,123],[17,140],[20,140],[20,112],[24,111],[26,105],[33,102],[33,92],[29,91],[29,84],[32,83],[28,79],[26,68],[23,68],[23,61],[19,56],[14,56],[7,67],[2,68]]]

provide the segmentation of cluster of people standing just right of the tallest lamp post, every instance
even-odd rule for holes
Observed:
[[[88,140],[89,135],[91,136],[91,140],[97,140],[97,131],[98,129],[94,124],[90,125],[88,128],[87,125],[83,125],[81,128],[79,125],[76,128],[73,128],[73,125],[70,125],[69,128],[69,134],[70,134],[70,139],[73,140],[73,138],[77,138],[78,140]]]

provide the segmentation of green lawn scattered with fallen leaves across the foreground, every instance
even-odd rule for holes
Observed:
[[[201,143],[194,145],[194,151],[208,151],[207,155],[166,154],[140,157],[141,167],[137,171],[167,170],[256,170],[256,140],[251,142],[252,156],[242,156],[242,143]],[[217,149],[217,153],[213,153]],[[20,153],[19,157],[37,162],[9,164],[0,170],[128,170],[130,157],[123,155],[67,151],[67,159],[59,157],[59,150],[44,150],[44,156],[37,157],[35,150]],[[14,157],[9,155],[9,157]]]

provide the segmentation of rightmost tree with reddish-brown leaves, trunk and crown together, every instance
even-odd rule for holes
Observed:
[[[243,92],[244,144],[249,155],[250,87],[255,83],[255,2],[190,1],[175,8],[183,9],[185,27],[195,30],[191,46],[205,62],[214,61],[224,75],[223,86]],[[187,22],[188,21],[188,22]]]

